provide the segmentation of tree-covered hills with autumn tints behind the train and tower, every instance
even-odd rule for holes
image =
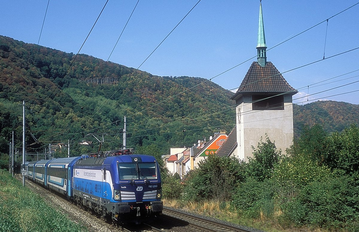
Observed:
[[[244,75],[244,74],[243,74]],[[238,85],[242,81],[239,78]],[[199,77],[159,77],[112,62],[0,36],[0,143],[7,153],[11,131],[22,146],[22,101],[27,107],[27,151],[71,141],[71,152],[122,147],[191,146],[235,123],[233,93]],[[294,133],[320,123],[328,132],[359,124],[358,105],[317,101],[294,105]],[[94,146],[80,146],[83,140]]]

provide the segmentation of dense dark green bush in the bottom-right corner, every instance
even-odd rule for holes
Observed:
[[[283,204],[283,209],[284,217],[298,225],[354,229],[359,221],[358,186],[347,176],[332,177],[325,182],[314,181]]]

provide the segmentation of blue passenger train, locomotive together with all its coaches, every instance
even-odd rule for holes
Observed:
[[[161,177],[153,156],[131,150],[25,163],[27,178],[119,223],[162,214]]]

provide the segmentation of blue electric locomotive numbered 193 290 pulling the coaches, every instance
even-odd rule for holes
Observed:
[[[153,156],[80,159],[74,165],[73,191],[77,203],[121,222],[162,213],[161,178]]]

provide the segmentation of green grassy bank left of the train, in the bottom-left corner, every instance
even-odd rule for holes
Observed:
[[[0,170],[0,232],[85,232],[84,226],[47,205],[8,171]]]

